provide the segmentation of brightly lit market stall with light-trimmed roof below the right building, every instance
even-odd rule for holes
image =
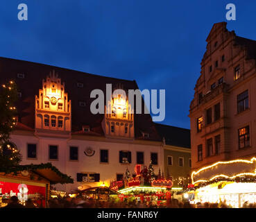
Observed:
[[[256,158],[216,162],[191,174],[192,203],[225,203],[243,207],[256,203]]]

